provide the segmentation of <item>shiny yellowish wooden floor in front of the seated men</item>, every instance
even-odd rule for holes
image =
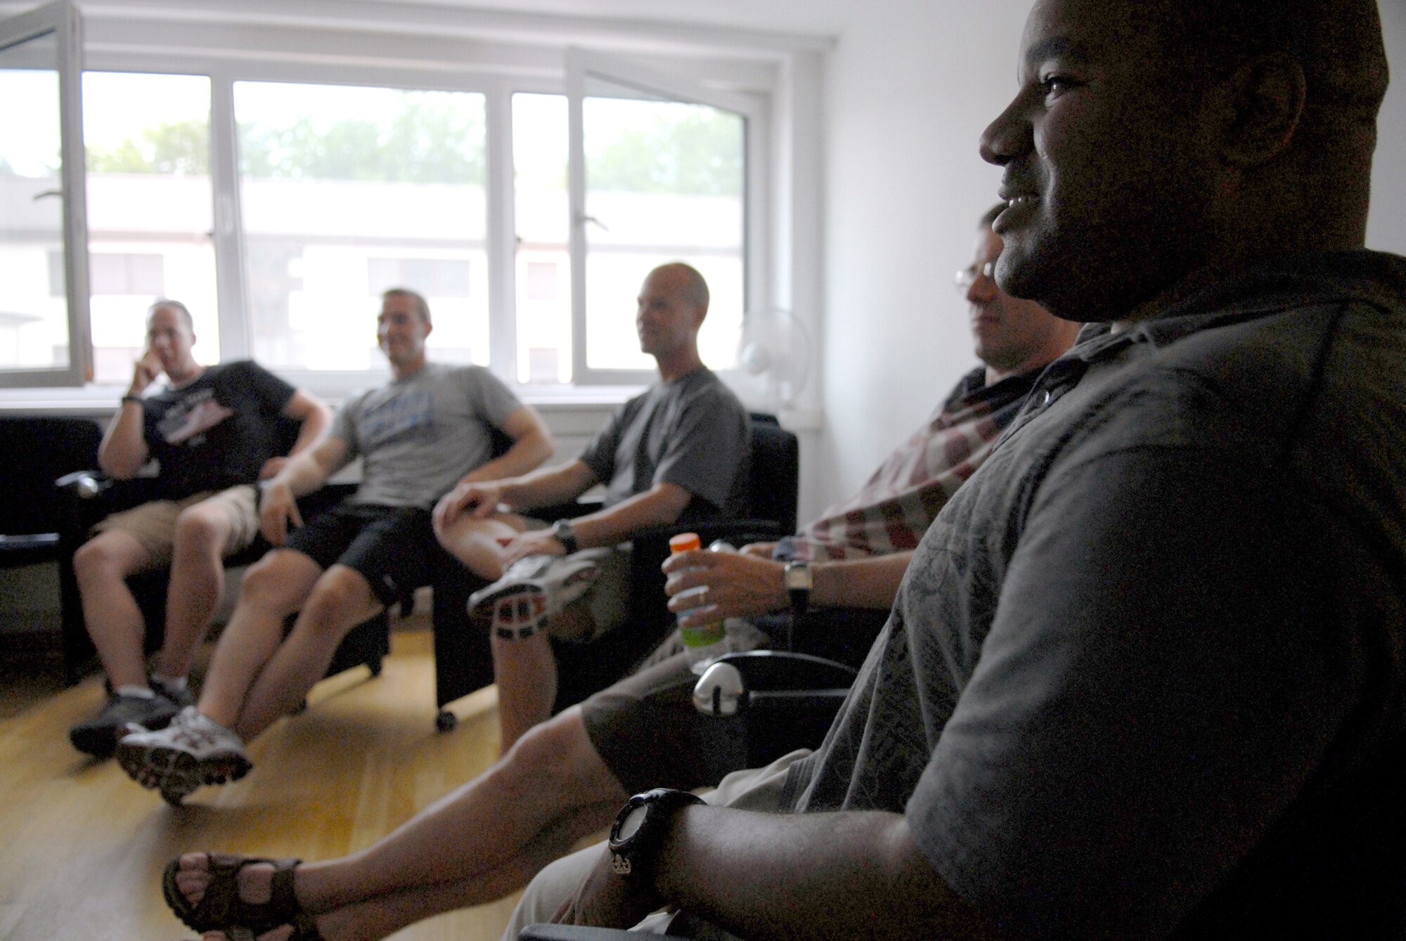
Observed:
[[[202,788],[174,809],[114,761],[90,761],[69,744],[69,726],[101,705],[101,681],[63,690],[56,666],[34,662],[38,669],[18,673],[0,663],[0,941],[188,938],[162,900],[159,876],[172,857],[342,855],[470,779],[498,751],[492,688],[453,705],[461,719],[454,732],[434,732],[430,635],[412,626],[392,633],[378,678],[357,667],[323,680],[307,712],[253,743],[256,767],[243,781]],[[515,902],[453,912],[394,937],[498,938]]]

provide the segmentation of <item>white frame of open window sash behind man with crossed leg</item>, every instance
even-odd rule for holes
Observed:
[[[747,177],[742,191],[742,309],[759,298],[770,296],[768,284],[766,228],[770,167],[770,121],[766,103],[742,94],[706,88],[696,81],[648,69],[616,56],[572,46],[567,49],[567,180],[571,204],[571,379],[578,386],[643,385],[652,378],[650,369],[592,369],[586,364],[586,150],[583,101],[586,77],[638,88],[648,94],[668,96],[676,101],[703,104],[740,114],[745,119],[744,159]],[[641,272],[641,278],[643,278]]]

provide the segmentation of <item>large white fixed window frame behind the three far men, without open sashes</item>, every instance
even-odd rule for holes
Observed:
[[[72,0],[65,3],[72,6]],[[772,142],[790,140],[797,115],[804,118],[801,131],[808,128],[810,112],[820,107],[815,63],[831,48],[830,41],[697,25],[676,28],[648,21],[405,7],[378,0],[367,0],[359,17],[329,15],[319,6],[308,7],[308,17],[283,20],[290,13],[290,4],[302,8],[302,3],[249,0],[249,6],[238,13],[207,6],[188,14],[165,0],[136,0],[127,6],[100,1],[86,8],[87,69],[200,74],[211,81],[211,188],[215,202],[211,239],[218,270],[222,358],[247,355],[250,350],[232,83],[307,81],[485,94],[491,368],[513,383],[524,400],[554,409],[568,407],[568,403],[575,403],[569,407],[586,407],[619,402],[651,381],[651,371],[595,371],[589,375],[578,371],[571,386],[516,382],[510,101],[516,93],[567,96],[565,60],[568,51],[578,44],[631,58],[626,62],[596,51],[576,53],[599,65],[603,77],[612,81],[643,83],[679,100],[717,104],[748,117],[747,308],[769,306],[776,298],[797,289],[818,299],[820,281],[814,274],[818,270],[818,244],[811,246],[808,236],[801,237],[799,247],[804,257],[796,257],[797,246],[789,244],[797,237],[792,219],[794,206],[817,204],[820,177],[813,164],[818,163]],[[316,22],[314,10],[318,11]],[[384,21],[384,29],[373,28],[371,22],[377,20]],[[238,24],[238,28],[222,29],[225,24]],[[681,51],[683,55],[679,55]],[[804,83],[797,87],[799,66]],[[72,70],[79,72],[76,62]],[[681,76],[707,84],[695,84]],[[77,81],[72,84],[75,88],[79,86]],[[731,93],[720,90],[724,87]],[[80,135],[82,111],[76,96],[70,121]],[[773,163],[778,159],[782,162]],[[66,166],[82,163],[66,160]],[[793,192],[797,180],[806,194],[799,204]],[[786,239],[787,244],[773,244],[776,239]],[[86,246],[86,232],[77,243]],[[575,268],[582,270],[582,265]],[[797,278],[803,284],[796,284]],[[87,298],[86,287],[72,294]],[[83,337],[83,344],[75,344],[75,348],[86,358],[90,355],[86,309],[76,315],[75,322],[75,336]],[[583,330],[578,329],[575,336],[578,344],[583,343]],[[576,355],[574,353],[574,358]],[[388,371],[280,369],[280,374],[336,400],[352,389],[381,382]],[[75,375],[67,382],[80,385],[83,378]],[[115,386],[91,382],[82,388],[52,388],[49,392],[35,389],[38,383],[28,376],[17,385],[31,390],[0,389],[0,410],[82,410],[84,402],[110,403],[117,396]]]

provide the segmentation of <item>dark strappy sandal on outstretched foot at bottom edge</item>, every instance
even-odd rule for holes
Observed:
[[[200,904],[191,904],[176,885],[180,857],[172,860],[162,874],[162,893],[166,904],[186,927],[194,931],[224,931],[229,941],[254,938],[280,926],[292,926],[290,941],[322,941],[316,920],[298,904],[292,892],[292,874],[302,860],[269,860],[229,853],[207,853],[209,885]],[[267,902],[245,902],[239,897],[239,872],[246,865],[273,865],[273,889]]]

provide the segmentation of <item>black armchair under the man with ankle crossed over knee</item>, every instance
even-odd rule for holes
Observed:
[[[591,643],[553,642],[558,664],[554,711],[585,699],[626,676],[673,626],[665,607],[664,573],[659,566],[669,555],[669,537],[697,532],[707,545],[727,539],[735,545],[775,541],[796,531],[796,501],[800,449],[796,435],[780,427],[775,416],[752,413],[748,465],[747,515],[686,527],[657,527],[631,539],[630,610],[631,622]],[[569,503],[543,507],[533,515],[544,520],[591,513],[599,504]],[[453,729],[456,718],[444,706],[494,681],[494,659],[488,632],[471,625],[464,612],[468,595],[482,587],[449,553],[443,553],[434,579],[434,685],[440,730]]]

